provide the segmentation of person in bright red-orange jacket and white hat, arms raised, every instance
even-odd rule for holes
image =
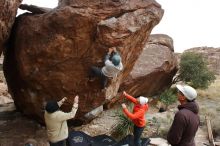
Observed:
[[[122,108],[125,115],[134,123],[134,145],[141,146],[141,134],[146,126],[145,113],[148,110],[148,98],[143,96],[134,98],[125,91],[123,92],[123,95],[134,103],[133,113],[128,111],[127,106],[124,103],[122,104]]]

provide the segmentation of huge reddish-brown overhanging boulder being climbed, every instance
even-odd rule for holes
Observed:
[[[9,91],[17,108],[43,122],[46,101],[79,95],[76,119],[113,98],[132,70],[151,30],[163,15],[153,0],[60,1],[44,14],[17,18],[4,60]],[[124,70],[101,90],[88,81],[90,66],[103,66],[108,47],[116,46]]]

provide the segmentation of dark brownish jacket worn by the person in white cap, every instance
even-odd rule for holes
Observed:
[[[178,106],[167,140],[172,146],[195,146],[194,137],[199,127],[199,107],[196,102]]]

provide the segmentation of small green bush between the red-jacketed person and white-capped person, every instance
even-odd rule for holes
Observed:
[[[169,105],[177,101],[176,90],[169,88],[162,92],[159,96],[162,103],[166,105],[166,110]]]

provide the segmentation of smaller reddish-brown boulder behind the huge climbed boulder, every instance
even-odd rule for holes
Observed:
[[[176,72],[172,38],[162,34],[151,35],[120,90],[134,96],[155,95],[172,84]]]

